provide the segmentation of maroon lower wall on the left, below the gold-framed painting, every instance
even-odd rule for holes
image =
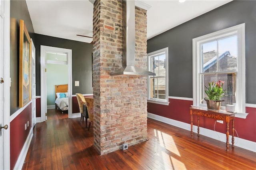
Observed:
[[[10,169],[13,169],[32,125],[31,103],[14,120],[10,122]],[[25,130],[25,123],[29,127]]]

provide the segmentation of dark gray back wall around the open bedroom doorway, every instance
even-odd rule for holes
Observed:
[[[40,96],[40,45],[72,49],[72,93],[92,93],[92,47],[90,43],[66,40],[62,38],[36,36],[36,95]],[[79,81],[75,87],[74,81]]]

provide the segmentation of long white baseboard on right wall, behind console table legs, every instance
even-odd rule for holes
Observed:
[[[190,129],[191,128],[190,124],[188,124],[188,123],[176,121],[176,120],[169,119],[169,118],[166,118],[166,117],[162,117],[162,116],[159,116],[159,115],[155,115],[155,114],[152,114],[152,113],[148,113],[148,118],[155,119],[157,121],[167,123],[167,124],[172,125],[172,126],[183,128],[185,130],[189,130],[189,131],[191,130]],[[193,131],[197,132],[197,126],[196,125],[193,125]],[[188,133],[190,133],[190,132],[188,132]],[[222,142],[226,142],[226,134],[224,134],[224,133],[220,133],[220,132],[216,132],[214,130],[210,130],[210,129],[207,129],[207,128],[200,127],[200,134],[204,135],[204,136],[207,136],[207,137],[210,137],[210,138],[213,138],[213,139],[216,139],[216,140],[220,140]],[[239,136],[239,134],[238,134],[238,136]],[[231,138],[232,138],[232,136],[230,135],[229,136],[229,141],[230,142],[231,142]],[[234,137],[234,139],[235,139],[235,143],[234,143],[235,146],[250,150],[252,152],[256,152],[256,142],[252,142],[250,140],[246,140],[246,139],[242,139],[242,138],[238,138],[238,137]]]

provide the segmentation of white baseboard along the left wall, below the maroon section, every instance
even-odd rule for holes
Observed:
[[[33,128],[30,128],[30,132],[28,134],[28,137],[23,145],[23,148],[20,152],[20,155],[18,157],[18,160],[14,166],[14,170],[21,170],[22,169],[22,166],[24,164],[24,160],[26,158],[26,155],[28,153],[28,148],[29,148],[29,145],[30,145],[30,142],[32,140],[32,136],[33,136]]]

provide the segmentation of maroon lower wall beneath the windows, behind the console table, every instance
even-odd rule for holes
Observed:
[[[153,113],[162,117],[174,119],[190,124],[190,111],[189,108],[193,104],[193,101],[169,99],[169,106],[158,105],[155,103],[148,103],[148,113]],[[256,142],[256,108],[246,107],[246,113],[249,113],[246,119],[236,118],[235,129],[239,138]],[[200,127],[214,130],[214,119],[200,117]],[[193,117],[193,124],[197,125],[197,117]],[[231,123],[230,123],[231,127]],[[226,124],[216,123],[215,130],[221,133],[226,133]],[[230,128],[231,130],[231,128]],[[230,131],[231,133],[231,131]],[[236,136],[236,134],[235,134]]]

